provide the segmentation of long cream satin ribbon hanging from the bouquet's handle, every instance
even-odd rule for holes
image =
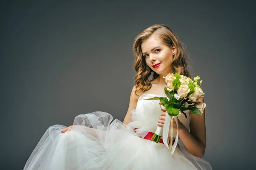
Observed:
[[[177,125],[177,134],[176,134],[176,138],[175,138],[175,142],[172,145],[172,136],[173,136],[173,119],[175,119],[176,125]],[[166,145],[166,147],[170,150],[170,153],[172,155],[172,153],[174,153],[175,148],[177,146],[178,143],[178,117],[177,116],[170,116],[168,113],[166,114],[165,120],[164,120],[164,124],[163,124],[163,143]],[[171,136],[171,140],[170,140],[170,144],[169,144],[169,140],[168,140],[168,133],[169,133],[169,127],[171,124],[171,128],[170,128],[170,136]]]

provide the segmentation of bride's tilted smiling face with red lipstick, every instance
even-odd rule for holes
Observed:
[[[176,52],[174,45],[172,48],[169,48],[162,40],[151,36],[142,42],[141,50],[148,67],[154,72],[160,74],[160,76],[166,76],[172,73],[172,56]],[[160,65],[155,67],[158,63]]]

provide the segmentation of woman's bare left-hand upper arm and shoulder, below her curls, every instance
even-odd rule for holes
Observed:
[[[139,99],[139,97],[141,95],[141,93],[138,93],[139,96],[137,96],[135,94],[135,90],[136,90],[136,87],[134,85],[134,87],[131,90],[128,111],[127,111],[127,113],[125,115],[125,119],[124,119],[124,122],[123,122],[125,125],[128,125],[128,123],[132,122],[132,120],[131,120],[131,110],[136,109],[138,99]]]

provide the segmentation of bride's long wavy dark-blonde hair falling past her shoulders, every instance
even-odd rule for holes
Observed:
[[[152,84],[151,81],[154,79],[159,79],[159,74],[154,72],[145,62],[145,57],[143,57],[141,44],[143,41],[147,40],[152,35],[157,35],[157,37],[162,40],[169,48],[172,45],[176,48],[176,53],[173,56],[172,61],[172,71],[173,74],[181,74],[186,77],[191,78],[191,74],[187,70],[189,63],[185,58],[185,48],[183,43],[179,40],[177,35],[166,25],[164,24],[155,24],[146,28],[142,33],[137,35],[133,44],[133,51],[135,55],[134,68],[137,74],[135,75],[135,94],[138,91],[145,92],[148,91]],[[152,75],[152,79],[149,80],[149,77]]]

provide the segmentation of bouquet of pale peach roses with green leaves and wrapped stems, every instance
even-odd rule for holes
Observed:
[[[198,85],[198,80],[200,77],[194,77],[194,80],[189,77],[180,75],[180,74],[171,74],[169,73],[165,78],[166,87],[164,92],[166,97],[153,97],[145,100],[160,100],[160,108],[163,108],[168,113],[171,119],[170,122],[166,122],[164,126],[170,125],[171,123],[171,136],[172,136],[172,122],[175,116],[183,113],[186,116],[184,111],[190,110],[194,114],[202,114],[203,109],[206,107],[205,103],[196,102],[201,97],[204,97],[204,93],[201,89],[202,80]],[[166,115],[167,116],[167,115]],[[176,123],[177,120],[175,119]],[[164,127],[157,127],[156,132],[154,133],[152,140],[159,142],[163,134]],[[169,127],[168,127],[169,130]],[[167,132],[168,135],[168,132]],[[167,136],[168,137],[168,136]],[[178,137],[178,133],[177,133]],[[172,142],[172,140],[171,140]],[[175,141],[176,142],[176,141]]]

